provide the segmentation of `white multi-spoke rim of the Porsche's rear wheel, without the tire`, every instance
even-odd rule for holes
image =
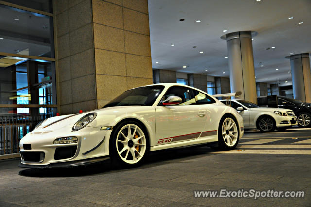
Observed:
[[[225,144],[228,147],[232,147],[236,144],[238,140],[238,127],[232,118],[228,117],[224,120],[222,133]]]

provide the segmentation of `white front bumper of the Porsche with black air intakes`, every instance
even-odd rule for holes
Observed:
[[[112,130],[88,127],[72,131],[63,127],[53,131],[33,131],[19,143],[24,168],[63,168],[100,162],[109,156],[109,137]],[[54,144],[62,137],[77,137],[76,143]]]

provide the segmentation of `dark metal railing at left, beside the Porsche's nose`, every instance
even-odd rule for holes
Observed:
[[[51,115],[0,116],[0,155],[19,152],[19,141],[42,120]]]

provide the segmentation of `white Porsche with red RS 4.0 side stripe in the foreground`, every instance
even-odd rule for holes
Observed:
[[[234,149],[242,116],[207,93],[176,83],[125,91],[102,109],[48,118],[20,140],[20,167],[136,165],[149,151],[218,143]]]

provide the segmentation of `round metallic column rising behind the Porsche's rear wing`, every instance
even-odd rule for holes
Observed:
[[[252,32],[233,32],[227,40],[231,92],[241,91],[241,99],[257,103]]]

